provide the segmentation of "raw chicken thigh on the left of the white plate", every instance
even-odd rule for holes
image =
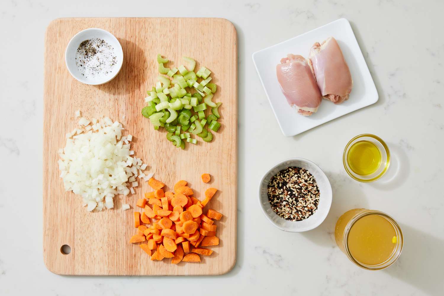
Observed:
[[[307,116],[317,111],[322,96],[309,59],[289,54],[276,66],[276,74],[282,93],[297,113]]]

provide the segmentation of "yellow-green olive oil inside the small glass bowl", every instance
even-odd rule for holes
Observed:
[[[355,174],[373,174],[381,164],[381,152],[372,142],[359,141],[350,147],[347,162]]]

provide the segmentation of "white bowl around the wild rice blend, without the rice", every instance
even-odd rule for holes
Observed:
[[[313,215],[302,221],[293,222],[277,216],[273,209],[271,209],[270,202],[268,201],[267,186],[270,179],[277,174],[277,172],[289,166],[297,166],[308,170],[316,179],[317,185],[319,186],[320,195],[317,210]],[[277,163],[262,177],[261,183],[259,184],[259,203],[265,217],[278,229],[288,232],[307,231],[321,225],[329,213],[332,198],[332,187],[327,176],[319,166],[305,158],[289,158]]]

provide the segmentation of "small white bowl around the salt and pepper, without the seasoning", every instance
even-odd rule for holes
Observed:
[[[75,64],[75,53],[77,52],[77,48],[79,48],[80,43],[82,43],[84,40],[91,38],[103,39],[114,48],[117,64],[115,65],[111,73],[109,73],[106,76],[85,78],[82,75],[82,73],[77,69],[77,65]],[[69,41],[65,51],[65,63],[72,77],[79,80],[81,83],[86,83],[91,85],[99,85],[107,83],[108,81],[111,81],[117,74],[119,74],[119,71],[122,68],[123,64],[122,46],[120,45],[119,40],[117,40],[117,38],[115,38],[115,36],[108,31],[98,28],[86,29],[75,34],[75,36],[72,37],[71,40]]]

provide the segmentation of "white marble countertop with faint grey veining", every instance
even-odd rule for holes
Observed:
[[[444,288],[444,20],[438,1],[31,1],[0,3],[0,295],[128,295],[199,285],[211,295],[442,295]],[[156,3],[157,2],[157,3]],[[397,3],[399,2],[399,3]],[[43,51],[48,23],[69,16],[206,16],[234,23],[239,52],[238,260],[217,277],[86,277],[49,272],[42,256]],[[380,99],[293,138],[284,138],[251,54],[345,17]],[[440,29],[441,28],[441,29]],[[342,150],[373,133],[393,154],[391,180],[355,182]],[[284,233],[262,216],[258,182],[275,162],[304,157],[333,185],[317,229]],[[26,190],[23,185],[26,182]],[[392,215],[404,250],[391,267],[362,270],[334,242],[337,218],[365,207]],[[151,284],[153,282],[156,284]],[[193,293],[196,295],[196,292]]]

